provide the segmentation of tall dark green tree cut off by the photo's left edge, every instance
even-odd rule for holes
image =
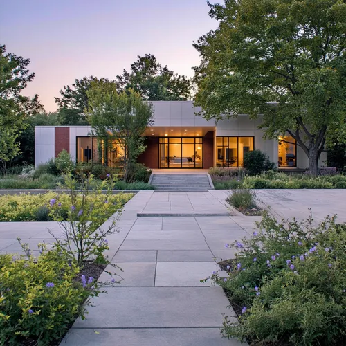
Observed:
[[[0,45],[0,161],[6,163],[19,154],[17,138],[26,127],[25,118],[42,111],[38,95],[28,98],[21,95],[35,73],[28,71],[29,59],[6,53]]]

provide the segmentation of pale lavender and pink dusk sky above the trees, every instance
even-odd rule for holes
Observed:
[[[217,1],[211,1],[215,3]],[[219,1],[220,2],[220,1]],[[174,73],[199,65],[194,41],[217,28],[206,0],[0,0],[0,43],[30,59],[35,79],[23,94],[39,94],[46,111],[76,78],[113,79],[137,55],[153,54]]]

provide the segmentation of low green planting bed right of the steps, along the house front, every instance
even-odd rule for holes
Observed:
[[[216,190],[230,189],[345,189],[346,176],[286,174],[274,171],[247,176],[243,170],[213,168],[210,176]]]

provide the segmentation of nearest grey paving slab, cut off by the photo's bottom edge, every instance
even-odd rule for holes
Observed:
[[[66,346],[245,346],[238,340],[222,338],[219,328],[72,328],[62,341]]]

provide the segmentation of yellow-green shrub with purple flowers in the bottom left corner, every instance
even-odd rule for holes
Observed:
[[[84,301],[100,289],[92,279],[85,287],[75,280],[79,268],[68,260],[64,253],[45,250],[35,261],[30,255],[0,255],[1,345],[23,345],[26,338],[51,345],[75,318],[84,318]]]

